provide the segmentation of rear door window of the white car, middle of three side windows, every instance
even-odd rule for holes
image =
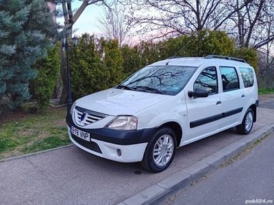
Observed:
[[[240,88],[238,74],[233,67],[220,67],[223,91],[237,90]]]

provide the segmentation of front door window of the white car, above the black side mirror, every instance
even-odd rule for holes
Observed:
[[[203,69],[194,83],[194,89],[197,87],[208,90],[208,94],[218,93],[217,72],[215,67]]]

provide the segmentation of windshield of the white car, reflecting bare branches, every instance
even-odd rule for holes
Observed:
[[[116,86],[117,89],[178,94],[197,70],[190,66],[147,66]]]

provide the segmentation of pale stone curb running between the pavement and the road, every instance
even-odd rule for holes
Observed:
[[[238,141],[226,146],[225,148],[207,156],[205,159],[190,165],[186,169],[177,172],[157,184],[132,195],[119,205],[135,205],[135,204],[156,204],[160,200],[164,200],[171,193],[188,187],[191,183],[196,182],[206,174],[210,174],[214,169],[218,169],[222,163],[229,161],[233,156],[251,146],[254,142],[266,137],[274,131],[274,124],[264,126],[258,131],[242,137]]]

